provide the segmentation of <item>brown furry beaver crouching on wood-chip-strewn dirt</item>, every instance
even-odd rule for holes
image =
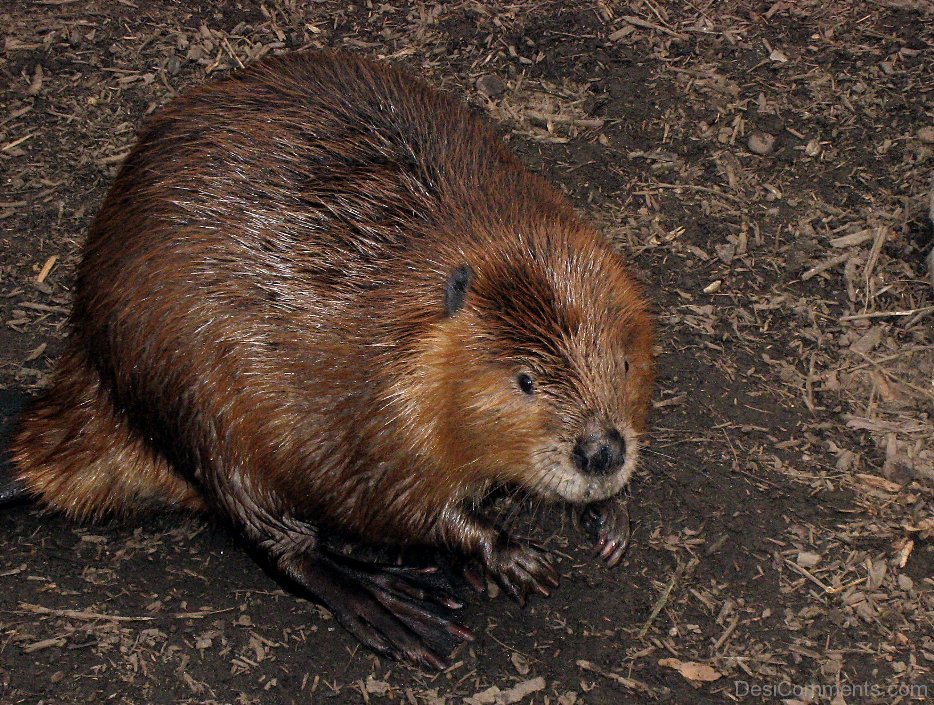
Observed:
[[[2,494],[211,512],[366,646],[437,667],[470,638],[450,585],[328,537],[547,595],[548,553],[481,510],[519,488],[583,507],[615,564],[652,344],[622,256],[466,105],[346,53],[267,58],[144,123]]]

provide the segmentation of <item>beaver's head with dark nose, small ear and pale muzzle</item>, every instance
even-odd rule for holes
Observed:
[[[652,323],[621,258],[583,235],[481,249],[448,274],[432,425],[444,465],[468,481],[587,503],[636,465]]]

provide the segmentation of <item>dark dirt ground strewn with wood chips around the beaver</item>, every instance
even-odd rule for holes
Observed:
[[[477,640],[443,673],[358,648],[201,519],[21,507],[0,514],[0,702],[926,701],[932,13],[3,2],[4,400],[61,349],[80,243],[144,115],[306,45],[403,62],[498,120],[632,254],[661,374],[624,564],[531,512],[561,587],[524,609],[471,597]]]

